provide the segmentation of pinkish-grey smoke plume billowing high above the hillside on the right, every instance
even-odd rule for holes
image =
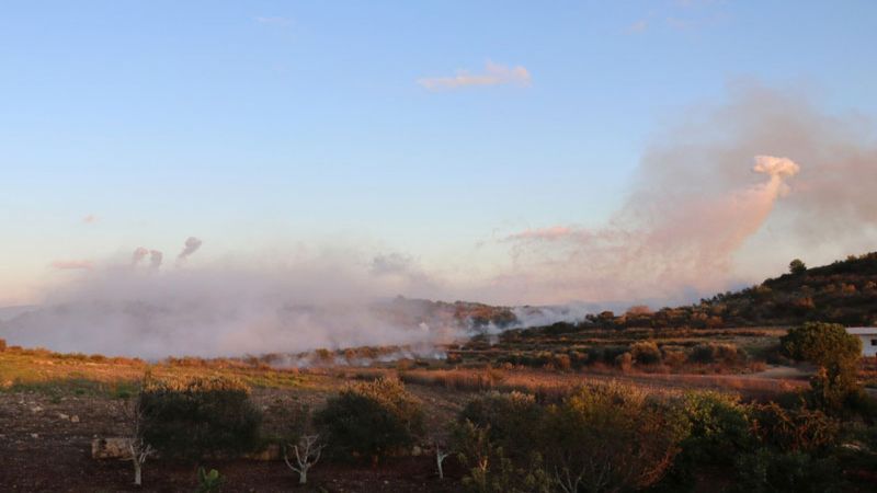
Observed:
[[[783,265],[789,250],[869,248],[877,146],[861,119],[752,83],[732,85],[727,105],[685,115],[646,150],[603,227],[508,236],[514,265],[498,283],[525,287],[531,302],[681,302],[732,287],[749,263]]]

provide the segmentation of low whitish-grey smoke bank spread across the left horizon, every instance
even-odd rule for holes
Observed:
[[[150,255],[150,270],[83,271],[3,322],[0,337],[59,352],[160,358],[384,345],[425,354],[464,335],[453,317],[434,318],[415,303],[392,309],[381,300],[395,295],[397,282],[385,284],[343,257],[158,271],[161,253]]]

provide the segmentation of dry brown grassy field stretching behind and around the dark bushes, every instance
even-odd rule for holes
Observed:
[[[277,368],[258,358],[169,359],[147,363],[101,355],[55,354],[9,347],[0,352],[0,486],[3,491],[191,491],[192,466],[157,459],[145,469],[140,490],[130,485],[130,465],[91,458],[94,438],[123,433],[119,403],[137,392],[149,372],[157,378],[232,377],[252,388],[265,415],[265,433],[283,426],[282,409],[291,403],[321,406],[351,381],[398,376],[423,402],[428,428],[441,428],[464,404],[487,390],[519,390],[540,400],[559,401],[573,389],[624,381],[648,392],[681,394],[714,389],[750,400],[770,400],[807,387],[807,368],[771,365],[745,357],[733,363],[633,364],[619,368],[602,362],[557,365],[555,355],[589,348],[654,341],[672,353],[705,342],[733,343],[751,355],[764,355],[779,330],[729,331],[582,331],[572,334],[509,333],[492,343],[475,340],[448,348],[444,360],[399,360],[369,367]],[[593,352],[593,349],[592,349]],[[540,364],[514,364],[513,358]],[[527,359],[531,358],[531,359]],[[562,358],[561,358],[562,360]],[[553,363],[554,362],[554,363]],[[574,366],[574,367],[573,367]],[[326,462],[315,468],[308,488],[316,491],[457,491],[464,470],[447,461],[438,480],[431,444],[423,452],[391,457],[380,467]],[[225,477],[228,491],[289,491],[295,474],[281,460],[216,459],[208,462]],[[50,471],[47,473],[46,471]],[[309,490],[307,490],[309,491]]]

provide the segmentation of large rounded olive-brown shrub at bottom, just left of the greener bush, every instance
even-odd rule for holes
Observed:
[[[563,491],[629,491],[661,479],[684,435],[672,406],[635,387],[610,383],[550,406],[540,448]]]

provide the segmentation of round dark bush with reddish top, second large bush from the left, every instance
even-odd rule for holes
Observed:
[[[423,434],[420,401],[397,379],[352,385],[314,416],[329,450],[342,459],[374,461],[413,445]]]

